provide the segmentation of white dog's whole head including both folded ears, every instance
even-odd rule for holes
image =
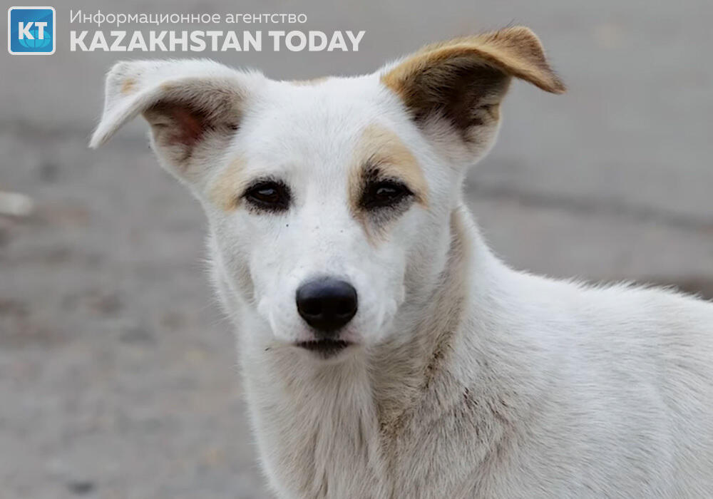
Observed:
[[[245,334],[322,353],[373,345],[443,269],[461,180],[493,144],[513,76],[564,91],[523,27],[426,46],[356,78],[121,62],[91,146],[139,113],[148,120],[160,163],[205,208],[223,299],[269,324]]]

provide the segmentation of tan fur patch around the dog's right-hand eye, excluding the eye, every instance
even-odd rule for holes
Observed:
[[[418,160],[396,133],[380,125],[371,124],[364,129],[354,150],[354,163],[349,171],[349,205],[356,220],[364,227],[372,245],[383,239],[386,227],[375,225],[359,206],[364,178],[378,171],[379,178],[392,178],[404,182],[414,193],[417,203],[428,206],[428,185]],[[388,223],[386,224],[388,225]]]

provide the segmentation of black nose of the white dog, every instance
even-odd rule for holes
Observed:
[[[320,337],[333,336],[356,314],[356,289],[329,277],[307,282],[297,289],[297,312]]]

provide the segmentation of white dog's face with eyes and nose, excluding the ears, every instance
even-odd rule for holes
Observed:
[[[279,341],[378,341],[429,202],[447,202],[448,173],[421,168],[425,144],[371,80],[267,82],[207,185],[221,273]]]

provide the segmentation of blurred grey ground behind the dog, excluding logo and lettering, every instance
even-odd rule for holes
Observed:
[[[0,498],[269,497],[198,204],[158,168],[140,120],[86,149],[119,58],[208,56],[310,78],[526,24],[570,91],[513,85],[466,187],[493,249],[534,272],[713,297],[710,0],[53,5],[53,56],[0,56],[0,190],[34,202],[0,215]],[[305,25],[217,29],[366,34],[357,53],[72,53],[70,9],[304,13]]]

